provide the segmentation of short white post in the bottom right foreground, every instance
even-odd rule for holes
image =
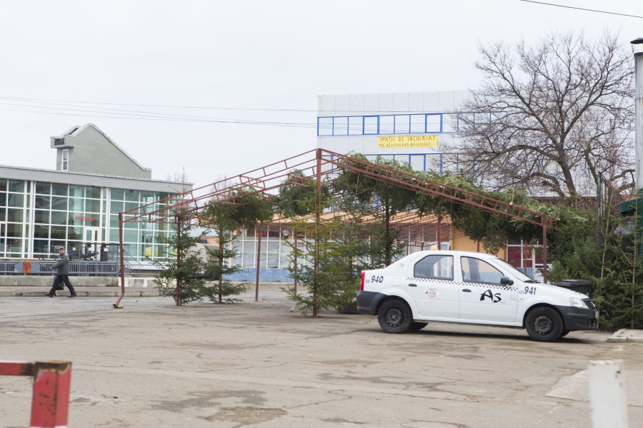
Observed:
[[[627,428],[627,403],[621,362],[589,362],[592,428]]]

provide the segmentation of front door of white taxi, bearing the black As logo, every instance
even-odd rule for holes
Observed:
[[[487,260],[461,256],[462,285],[459,292],[461,321],[513,323],[518,307],[518,290],[503,285],[504,273]]]

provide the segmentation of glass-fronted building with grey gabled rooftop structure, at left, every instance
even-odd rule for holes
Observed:
[[[0,165],[0,259],[57,257],[113,260],[119,246],[119,213],[191,190],[191,184],[152,180],[142,167],[88,123],[51,137],[56,170]],[[124,223],[128,260],[164,258],[166,223]],[[110,257],[111,256],[111,257]]]

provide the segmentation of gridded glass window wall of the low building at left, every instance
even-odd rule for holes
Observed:
[[[119,213],[171,195],[145,183],[117,188],[101,185],[99,177],[93,181],[0,177],[0,258],[49,258],[63,245],[72,258],[100,260],[101,251],[119,243]],[[162,207],[158,203],[155,209]],[[156,237],[169,233],[165,223],[125,223],[126,254],[136,260],[161,257],[164,245]]]

